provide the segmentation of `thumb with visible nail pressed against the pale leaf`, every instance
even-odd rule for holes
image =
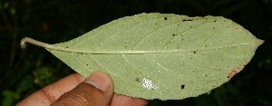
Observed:
[[[92,72],[84,82],[64,93],[52,106],[109,106],[112,95],[112,78],[104,72]]]

